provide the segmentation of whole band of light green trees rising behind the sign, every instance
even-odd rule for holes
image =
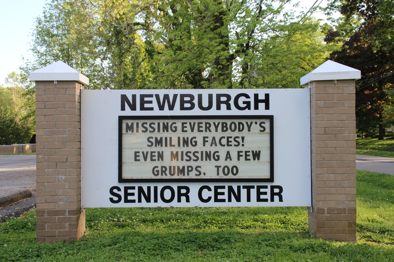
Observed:
[[[51,0],[33,30],[33,61],[57,60],[88,88],[284,88],[324,62],[320,22],[287,0]]]

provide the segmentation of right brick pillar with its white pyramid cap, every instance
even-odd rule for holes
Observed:
[[[312,207],[309,232],[356,239],[357,69],[328,60],[301,78],[310,88]]]

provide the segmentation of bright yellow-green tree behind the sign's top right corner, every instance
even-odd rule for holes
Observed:
[[[308,19],[302,25],[278,26],[275,37],[264,41],[261,56],[254,55],[251,88],[294,88],[299,79],[327,60],[334,45],[322,41],[319,21]]]

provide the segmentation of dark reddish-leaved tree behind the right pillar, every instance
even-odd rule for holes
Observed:
[[[385,124],[393,124],[394,88],[394,2],[391,0],[345,0],[333,8],[343,18],[337,30],[331,30],[328,42],[342,42],[342,49],[331,59],[361,70],[357,82],[357,128],[366,132],[379,127],[379,139],[384,138]],[[341,30],[342,29],[342,30]],[[351,29],[351,30],[349,30]]]

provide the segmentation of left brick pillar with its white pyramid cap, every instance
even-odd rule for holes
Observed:
[[[35,81],[36,239],[78,239],[85,232],[80,92],[89,79],[58,61],[30,73],[30,80]]]

